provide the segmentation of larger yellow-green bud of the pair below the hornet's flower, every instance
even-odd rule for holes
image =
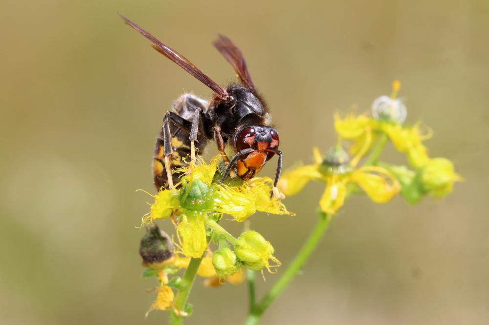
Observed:
[[[268,260],[272,260],[277,266],[280,265],[272,255],[274,251],[273,246],[253,230],[242,233],[234,246],[234,252],[244,266],[255,271],[264,267],[270,270]]]

